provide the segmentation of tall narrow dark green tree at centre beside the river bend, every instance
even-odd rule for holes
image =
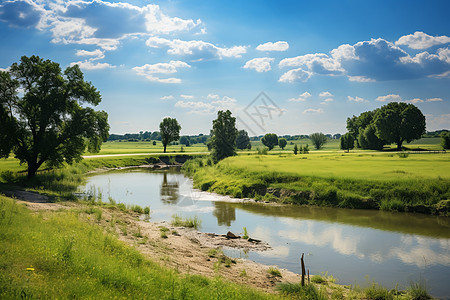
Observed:
[[[211,139],[208,145],[214,162],[236,155],[237,134],[236,118],[231,116],[229,110],[218,111],[217,119],[213,121]]]

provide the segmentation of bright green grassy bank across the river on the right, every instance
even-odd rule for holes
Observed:
[[[450,155],[240,155],[188,161],[203,191],[257,201],[448,216]]]

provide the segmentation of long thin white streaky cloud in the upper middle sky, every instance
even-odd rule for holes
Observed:
[[[145,44],[151,48],[168,47],[167,53],[176,55],[189,55],[193,59],[203,60],[209,58],[242,57],[247,52],[247,46],[233,46],[230,48],[218,47],[204,41],[169,40],[160,37],[150,37]]]

